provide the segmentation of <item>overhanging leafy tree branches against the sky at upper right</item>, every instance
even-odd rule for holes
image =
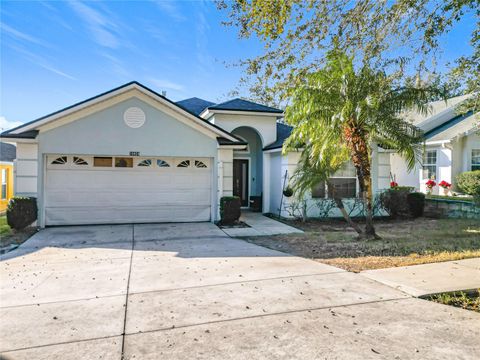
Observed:
[[[241,84],[269,103],[288,102],[286,89],[324,65],[339,47],[361,63],[399,81],[405,74],[434,73],[442,36],[474,25],[471,54],[459,54],[451,72],[463,92],[476,92],[470,110],[480,109],[480,0],[217,0],[228,11],[225,24],[240,37],[256,36],[265,51],[242,59]],[[468,26],[470,29],[470,26]],[[266,96],[266,94],[270,94]],[[273,101],[273,98],[276,98]]]

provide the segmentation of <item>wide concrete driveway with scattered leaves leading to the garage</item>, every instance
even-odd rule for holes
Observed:
[[[0,263],[2,359],[478,359],[480,315],[209,223],[49,228]]]

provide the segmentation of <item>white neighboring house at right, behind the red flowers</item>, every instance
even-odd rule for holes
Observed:
[[[427,115],[410,113],[407,119],[425,132],[423,161],[408,171],[405,161],[396,153],[390,155],[392,175],[399,185],[413,186],[425,192],[425,183],[445,180],[455,186],[458,174],[480,170],[480,114],[459,115],[456,107],[468,95],[430,103]],[[439,187],[433,189],[439,193]],[[441,191],[440,191],[441,193]]]

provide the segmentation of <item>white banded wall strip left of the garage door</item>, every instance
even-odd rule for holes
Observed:
[[[15,162],[15,195],[38,197],[38,145],[17,144]]]

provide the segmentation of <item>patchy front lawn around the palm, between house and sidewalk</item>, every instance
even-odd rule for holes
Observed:
[[[354,272],[480,257],[478,219],[378,220],[382,239],[371,241],[340,220],[286,223],[304,233],[246,240]]]

